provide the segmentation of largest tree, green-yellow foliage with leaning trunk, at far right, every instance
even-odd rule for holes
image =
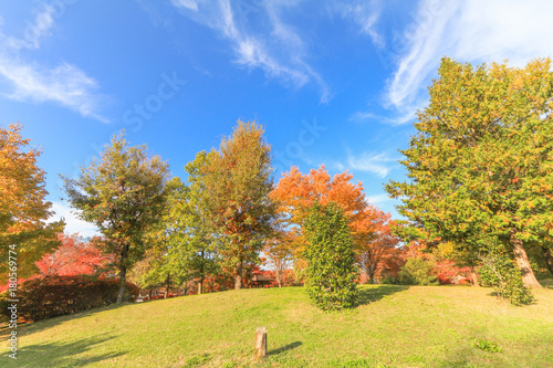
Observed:
[[[444,59],[400,161],[406,182],[386,190],[410,239],[452,241],[473,254],[508,250],[524,285],[541,287],[526,255],[553,236],[553,73]]]

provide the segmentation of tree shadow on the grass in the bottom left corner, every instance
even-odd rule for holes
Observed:
[[[17,360],[8,355],[11,351],[2,353],[0,361],[12,360],[12,366],[22,367],[84,367],[93,362],[112,359],[127,354],[127,351],[101,354],[97,345],[113,339],[114,336],[104,338],[83,338],[76,341],[44,343],[22,346],[18,348]],[[77,357],[86,351],[92,351],[83,357]]]

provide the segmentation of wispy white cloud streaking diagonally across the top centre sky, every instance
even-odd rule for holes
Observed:
[[[313,83],[322,103],[332,97],[328,85],[306,61],[307,46],[284,21],[283,12],[296,7],[295,1],[173,0],[171,3],[184,15],[229,40],[239,65],[261,69],[268,77],[295,87]]]

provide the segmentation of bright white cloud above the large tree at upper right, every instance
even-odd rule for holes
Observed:
[[[400,40],[407,48],[397,52],[397,70],[386,93],[388,106],[403,115],[400,120],[413,119],[446,55],[477,64],[509,60],[519,66],[553,55],[553,42],[545,36],[553,33],[552,11],[547,0],[421,1]]]

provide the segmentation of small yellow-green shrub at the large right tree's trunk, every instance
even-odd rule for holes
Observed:
[[[517,263],[505,252],[492,252],[480,255],[482,267],[479,275],[483,285],[495,288],[498,296],[512,305],[531,304],[534,298],[522,283],[522,275]]]

